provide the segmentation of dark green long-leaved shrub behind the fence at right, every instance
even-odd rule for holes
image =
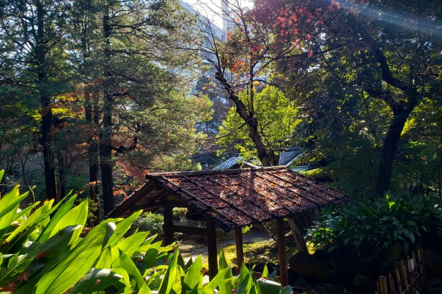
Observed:
[[[382,248],[394,242],[406,248],[422,241],[424,234],[442,234],[442,210],[427,197],[386,195],[325,213],[308,230],[307,239],[329,251],[346,245]]]

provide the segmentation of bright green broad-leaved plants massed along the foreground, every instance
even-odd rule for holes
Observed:
[[[88,204],[73,208],[75,195],[23,210],[27,193],[19,195],[19,186],[1,196],[0,293],[291,293],[289,286],[256,280],[244,264],[233,277],[222,252],[218,275],[203,286],[201,256],[184,264],[173,246],[153,242],[155,235],[123,237],[141,211],[106,219],[82,239]],[[265,270],[263,277],[272,275]]]

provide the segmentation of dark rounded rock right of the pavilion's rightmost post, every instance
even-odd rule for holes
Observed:
[[[308,253],[296,253],[290,257],[289,267],[291,271],[305,277],[316,277],[323,281],[329,278],[329,266]]]

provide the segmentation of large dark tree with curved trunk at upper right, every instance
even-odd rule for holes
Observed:
[[[286,10],[296,10],[298,4],[291,2],[279,13],[285,16]],[[433,9],[434,1],[401,5],[394,1],[332,1],[329,5],[327,13],[336,13],[336,17],[321,23],[320,35],[313,36],[318,46],[312,50],[312,62],[303,66],[285,63],[283,70],[296,68],[296,72],[287,75],[281,71],[281,75],[296,84],[301,75],[310,79],[316,71],[328,75],[336,69],[334,77],[347,79],[348,88],[342,93],[347,99],[376,99],[387,108],[384,119],[388,125],[378,128],[379,141],[374,143],[378,148],[376,192],[383,193],[391,188],[394,159],[407,120],[422,101],[437,99],[430,89],[439,83],[440,11]],[[325,48],[332,50],[324,55]],[[339,77],[340,70],[349,75]],[[329,89],[333,87],[332,81]]]

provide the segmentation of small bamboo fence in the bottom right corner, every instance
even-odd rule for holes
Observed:
[[[381,275],[376,282],[376,294],[415,294],[422,291],[425,286],[425,267],[423,262],[423,249],[420,244],[407,259],[394,263],[394,269],[388,276]]]

